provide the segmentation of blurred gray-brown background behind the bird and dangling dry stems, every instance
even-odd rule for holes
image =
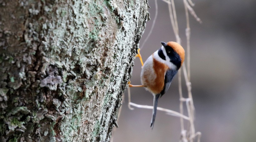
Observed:
[[[193,0],[194,11],[203,21],[190,15],[191,83],[195,106],[195,130],[201,142],[255,142],[256,140],[256,1]],[[150,18],[140,41],[142,45],[155,16],[155,2],[149,0]],[[186,50],[183,1],[175,1],[181,44]],[[175,41],[168,5],[158,0],[158,17],[152,35],[141,50],[143,61],[161,46]],[[131,83],[140,85],[141,64],[135,59]],[[187,93],[183,80],[183,93]],[[178,142],[180,119],[158,111],[151,131],[152,110],[127,107],[125,94],[119,128],[114,142]],[[131,101],[152,105],[153,96],[144,88],[131,88]],[[179,111],[178,76],[159,107]]]

